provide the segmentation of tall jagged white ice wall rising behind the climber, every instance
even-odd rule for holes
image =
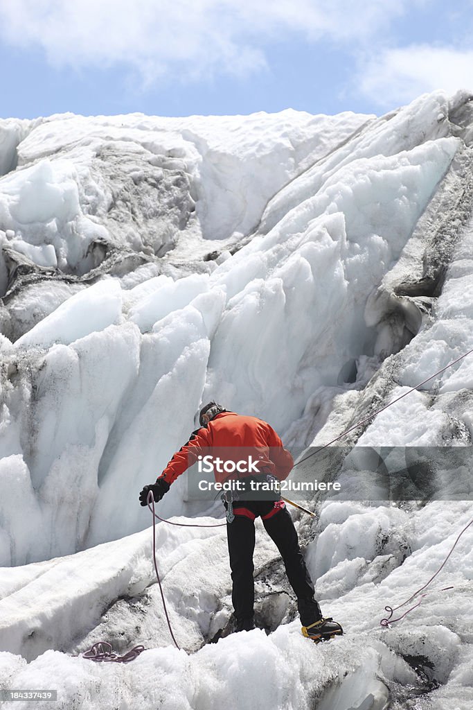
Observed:
[[[347,364],[406,344],[391,329],[383,349],[365,310],[462,144],[450,110],[437,92],[381,119],[30,129],[0,180],[0,564],[145,527],[130,501],[203,400],[301,432],[316,393],[362,386]],[[183,496],[184,480],[163,512]]]

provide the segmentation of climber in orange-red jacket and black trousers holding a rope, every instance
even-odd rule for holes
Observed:
[[[244,481],[244,486],[250,480],[255,481],[252,486],[259,486],[262,481],[283,480],[289,476],[294,461],[267,422],[257,417],[228,412],[216,402],[210,402],[201,409],[199,422],[201,427],[194,431],[187,444],[174,454],[156,483],[143,488],[140,493],[142,506],[147,504],[149,491],[152,491],[155,501],[160,501],[169,491],[173,481],[197,461],[199,454],[210,450],[218,451],[219,454],[226,451],[227,460],[230,450],[232,459],[235,459],[237,452],[243,450],[245,453],[255,454],[259,474],[238,474],[239,479]],[[224,474],[218,475],[214,471],[214,475],[216,480],[223,481]],[[223,496],[227,509],[228,552],[236,630],[249,631],[255,628],[252,558],[255,549],[254,520],[260,515],[267,533],[281,553],[289,583],[296,594],[303,625],[302,633],[316,643],[342,634],[339,623],[331,618],[323,618],[321,608],[314,599],[313,583],[299,548],[297,532],[291,515],[277,492],[277,486],[272,488],[272,491],[275,491],[272,493],[247,495],[248,491],[250,488],[245,487],[243,493],[225,493]]]

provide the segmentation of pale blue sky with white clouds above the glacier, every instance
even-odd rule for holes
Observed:
[[[381,114],[473,90],[472,38],[472,0],[0,0],[0,116]]]

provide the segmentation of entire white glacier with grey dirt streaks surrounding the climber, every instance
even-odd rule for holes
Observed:
[[[433,471],[447,500],[316,494],[315,519],[293,511],[345,629],[323,648],[260,523],[261,628],[231,635],[223,528],[160,523],[174,648],[138,503],[211,398],[300,451],[370,416],[343,440],[348,489],[363,451],[471,447],[473,355],[375,413],[473,349],[472,95],[380,117],[6,119],[0,175],[0,690],[57,689],[55,709],[472,705],[473,528],[432,586],[451,589],[379,623],[472,520],[471,469]],[[158,512],[223,515],[185,475]],[[82,658],[101,639],[147,650]]]

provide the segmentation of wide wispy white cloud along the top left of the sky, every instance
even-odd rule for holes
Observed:
[[[425,0],[417,0],[425,1]],[[0,0],[0,36],[43,48],[57,66],[111,67],[186,79],[246,76],[265,44],[328,39],[358,45],[407,0]]]

